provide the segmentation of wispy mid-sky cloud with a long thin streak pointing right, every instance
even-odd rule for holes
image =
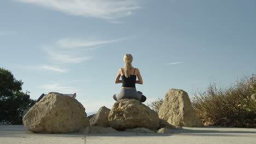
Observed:
[[[48,58],[54,62],[64,63],[81,63],[94,58],[88,55],[91,50],[98,49],[106,44],[115,43],[123,39],[114,40],[88,40],[65,38],[57,40],[54,44],[43,45]]]

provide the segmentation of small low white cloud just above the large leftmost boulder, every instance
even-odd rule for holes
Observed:
[[[51,83],[42,86],[36,86],[37,88],[44,88],[48,92],[59,92],[59,93],[76,93],[82,89],[73,86],[62,86],[61,83]]]

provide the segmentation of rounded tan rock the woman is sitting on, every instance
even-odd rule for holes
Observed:
[[[110,127],[117,130],[139,127],[155,130],[159,126],[158,113],[136,99],[117,101],[109,112],[108,121]]]

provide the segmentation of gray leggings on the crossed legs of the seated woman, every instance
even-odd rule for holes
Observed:
[[[137,99],[141,102],[146,101],[146,97],[142,95],[142,92],[137,92],[135,87],[132,88],[121,88],[121,91],[113,95],[114,100],[120,99]]]

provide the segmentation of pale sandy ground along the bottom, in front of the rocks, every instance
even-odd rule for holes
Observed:
[[[137,134],[121,131],[116,134],[84,135],[34,134],[23,125],[0,125],[0,143],[249,143],[256,144],[256,129],[203,127],[174,130],[175,134]]]

